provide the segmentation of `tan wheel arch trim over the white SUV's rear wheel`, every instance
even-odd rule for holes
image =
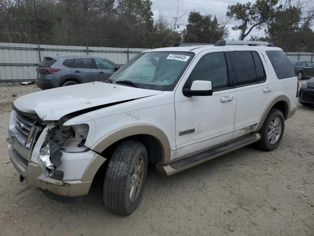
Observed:
[[[279,95],[275,97],[272,101],[270,101],[262,114],[262,118],[260,120],[259,126],[257,127],[257,131],[260,131],[262,125],[266,119],[267,114],[272,108],[276,108],[284,114],[285,120],[288,119],[290,113],[290,100],[286,95]]]

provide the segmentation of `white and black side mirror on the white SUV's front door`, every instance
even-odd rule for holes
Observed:
[[[183,89],[183,95],[186,97],[191,96],[211,96],[212,86],[211,81],[195,80],[191,88]]]

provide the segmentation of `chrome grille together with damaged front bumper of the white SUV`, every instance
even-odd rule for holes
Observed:
[[[72,148],[69,151],[61,151],[50,140],[47,142],[51,126],[36,125],[34,120],[12,111],[8,153],[20,179],[26,180],[26,187],[63,196],[86,195],[106,159],[89,148],[78,148],[76,143],[68,145]]]

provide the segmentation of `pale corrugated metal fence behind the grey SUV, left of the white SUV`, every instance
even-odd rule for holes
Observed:
[[[35,67],[45,56],[91,55],[122,65],[144,50],[146,49],[0,43],[0,82],[34,81]]]

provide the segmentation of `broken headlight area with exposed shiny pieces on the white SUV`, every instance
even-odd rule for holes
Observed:
[[[63,152],[83,152],[88,148],[84,146],[89,127],[87,124],[62,126],[56,123],[55,127],[48,129],[46,139],[42,145],[39,158],[48,170],[48,177],[61,164]]]

